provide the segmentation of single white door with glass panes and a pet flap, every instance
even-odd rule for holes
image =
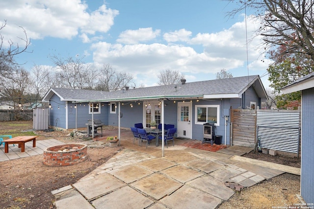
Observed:
[[[192,139],[192,103],[179,102],[178,137]]]

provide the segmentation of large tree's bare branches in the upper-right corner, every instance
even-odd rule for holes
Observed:
[[[227,0],[233,2],[234,0]],[[256,11],[267,47],[286,46],[285,53],[304,53],[314,60],[313,0],[239,0],[239,7],[230,16],[246,8]]]

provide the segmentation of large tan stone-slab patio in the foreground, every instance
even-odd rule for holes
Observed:
[[[164,157],[159,153],[123,149],[73,186],[52,191],[59,199],[54,205],[79,209],[77,202],[85,199],[82,205],[96,209],[216,208],[235,193],[225,182],[252,186],[269,178],[264,173],[284,173],[265,167],[257,173],[232,155],[182,146],[172,147]]]

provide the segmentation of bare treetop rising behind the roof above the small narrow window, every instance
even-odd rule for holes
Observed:
[[[116,91],[131,84],[133,76],[126,72],[116,72],[110,64],[104,64],[100,69],[99,83],[97,90]]]

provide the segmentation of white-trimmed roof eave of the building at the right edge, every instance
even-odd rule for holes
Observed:
[[[292,93],[311,88],[314,88],[314,72],[288,84],[281,91],[283,93]]]

